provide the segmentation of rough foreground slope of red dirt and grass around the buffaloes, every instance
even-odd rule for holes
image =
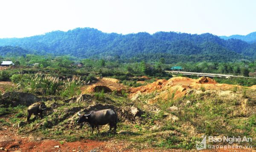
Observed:
[[[85,86],[111,84],[110,92],[94,90],[70,99],[6,91],[0,97],[0,146],[8,151],[189,152],[202,135],[256,137],[255,86],[218,84],[205,77],[174,77],[129,88],[125,94],[130,100],[114,91],[115,86],[119,89],[118,82],[102,78]],[[41,100],[48,107],[44,118],[32,116],[31,123],[26,124],[26,107]],[[108,125],[101,126],[99,134],[91,134],[87,123],[76,122],[79,111],[107,108],[118,114],[117,134],[108,133]],[[239,143],[248,144],[255,147],[256,142]],[[205,150],[209,151],[216,149]]]

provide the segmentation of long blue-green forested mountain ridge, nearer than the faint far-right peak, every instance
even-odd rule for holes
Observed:
[[[212,34],[157,32],[148,34],[103,33],[94,28],[53,31],[25,38],[0,39],[0,46],[18,46],[21,53],[73,55],[81,58],[121,58],[125,60],[232,61],[255,59],[256,43],[221,39]],[[8,48],[8,47],[7,47]],[[11,51],[12,52],[12,51]],[[0,55],[6,55],[1,52]]]

